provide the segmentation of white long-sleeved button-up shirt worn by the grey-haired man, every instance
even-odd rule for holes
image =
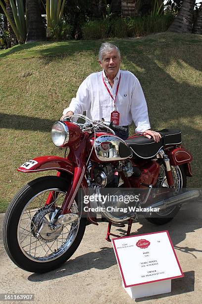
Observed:
[[[121,73],[118,93],[116,88]],[[92,120],[110,121],[111,112],[114,111],[114,101],[107,91],[104,81],[115,99],[115,109],[120,113],[119,125],[127,126],[134,121],[135,132],[144,132],[150,129],[147,103],[138,78],[129,71],[119,70],[111,87],[104,71],[89,75],[79,86],[76,98],[68,108],[64,109],[63,115],[68,111],[74,114],[83,114]]]

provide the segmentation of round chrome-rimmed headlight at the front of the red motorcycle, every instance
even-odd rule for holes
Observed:
[[[63,147],[69,141],[69,129],[62,121],[57,121],[51,130],[52,142],[56,147]]]

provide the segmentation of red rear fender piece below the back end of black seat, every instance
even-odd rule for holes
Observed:
[[[190,162],[192,161],[193,157],[192,154],[184,149],[182,146],[180,148],[172,149],[166,151],[170,159],[170,164],[173,166],[179,166],[184,164],[186,175],[192,176],[192,170]]]

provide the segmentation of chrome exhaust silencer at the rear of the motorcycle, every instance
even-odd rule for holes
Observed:
[[[169,207],[180,205],[185,203],[188,200],[199,197],[202,194],[201,190],[190,190],[184,193],[177,194],[168,199],[156,202],[152,204],[151,208],[159,208],[159,210],[164,210]],[[149,207],[150,208],[150,207]]]

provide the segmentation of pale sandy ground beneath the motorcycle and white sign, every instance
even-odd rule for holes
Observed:
[[[170,294],[137,299],[136,302],[202,303],[201,204],[184,205],[167,225],[156,227],[145,219],[141,224],[133,224],[132,234],[168,230],[185,274],[184,278],[172,280]],[[0,231],[3,216],[0,214]],[[72,258],[59,269],[43,275],[25,272],[15,266],[4,250],[0,234],[0,293],[34,294],[34,302],[29,303],[134,303],[135,300],[131,300],[121,286],[112,244],[105,241],[106,229],[107,223],[99,223],[98,227],[87,226]],[[114,227],[112,230],[123,235],[126,228]]]

